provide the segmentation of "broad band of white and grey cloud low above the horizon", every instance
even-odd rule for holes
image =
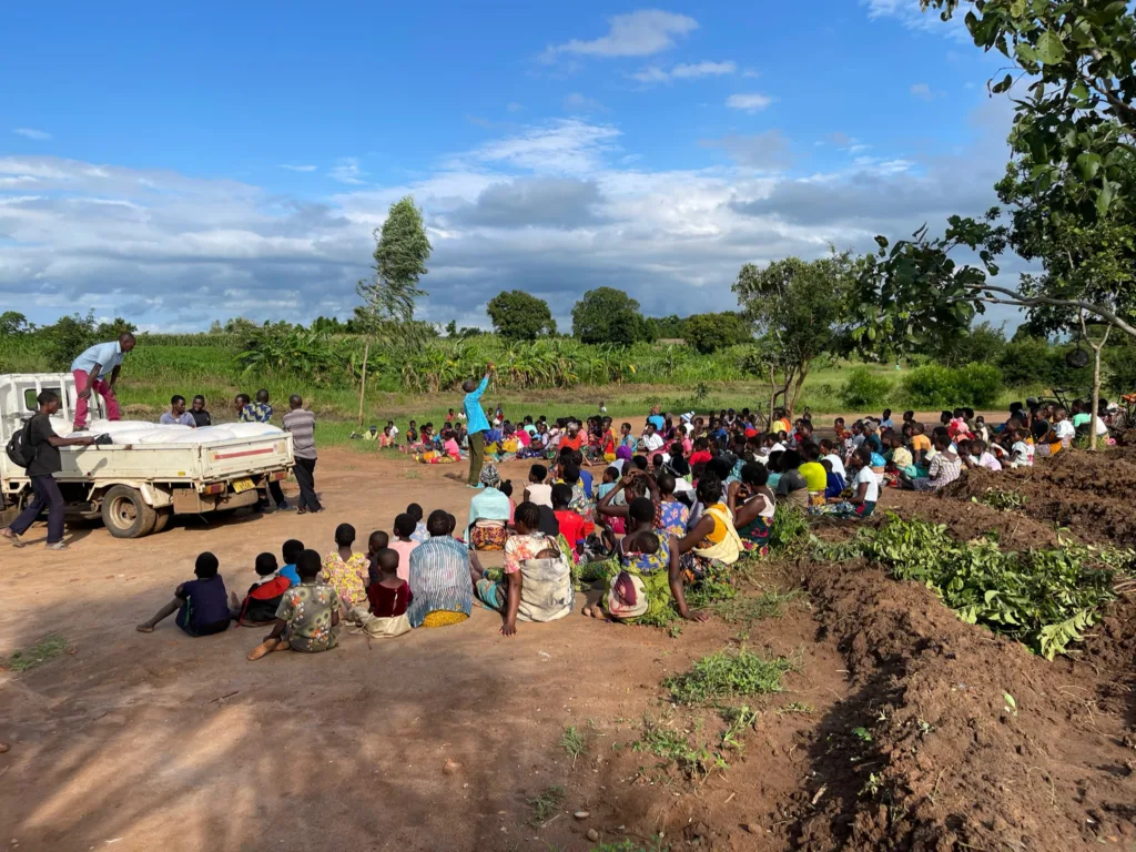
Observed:
[[[346,317],[371,231],[412,193],[434,244],[424,319],[485,325],[486,295],[526,289],[567,328],[582,284],[624,289],[654,315],[727,310],[744,262],[818,257],[829,243],[864,250],[875,234],[995,203],[1012,105],[983,110],[980,141],[958,154],[857,158],[808,177],[775,170],[791,152],[777,132],[705,143],[732,164],[653,169],[620,147],[618,128],[561,119],[499,131],[415,181],[346,184],[315,201],[168,170],[0,157],[0,303],[22,300],[36,323],[114,304],[167,331],[237,314]]]

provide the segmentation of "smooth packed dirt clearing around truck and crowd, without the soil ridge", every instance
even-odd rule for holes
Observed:
[[[317,469],[323,515],[175,524],[139,541],[91,527],[52,557],[37,546],[40,525],[31,546],[0,551],[0,655],[50,633],[70,643],[37,669],[0,673],[0,741],[11,744],[0,755],[3,843],[545,850],[586,847],[593,826],[607,837],[630,826],[641,815],[603,813],[602,787],[623,780],[609,777],[604,750],[658,695],[663,675],[720,648],[720,624],[687,626],[676,641],[574,615],[521,625],[507,640],[499,617],[475,609],[457,627],[371,646],[346,635],[326,654],[256,663],[244,658],[262,629],[194,640],[168,619],[152,635],[134,630],[191,578],[202,550],[220,558],[227,586],[241,593],[256,554],[278,552],[289,537],[326,552],[336,524],[365,538],[390,529],[410,501],[460,523],[471,492],[445,477],[456,467],[327,451]],[[527,468],[515,463],[506,475],[519,482]],[[778,650],[811,630],[802,616]],[[825,668],[841,668],[835,653]],[[610,738],[573,771],[557,743],[566,725],[588,720]],[[452,774],[446,761],[458,765]],[[550,785],[568,787],[565,808],[594,817],[532,828],[527,800]]]

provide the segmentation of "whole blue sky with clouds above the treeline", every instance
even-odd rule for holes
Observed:
[[[918,0],[11,5],[0,310],[345,319],[408,193],[420,319],[729,310],[743,264],[996,203],[1000,65]]]

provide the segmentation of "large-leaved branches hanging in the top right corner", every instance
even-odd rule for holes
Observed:
[[[949,19],[961,0],[920,0]],[[1084,184],[1101,214],[1124,198],[1118,153],[1136,152],[1136,16],[1124,0],[982,0],[968,3],[976,45],[997,50],[1011,73],[991,91],[1028,76],[1014,98],[1013,135],[1034,153],[1035,179]],[[1127,199],[1126,199],[1127,200]]]

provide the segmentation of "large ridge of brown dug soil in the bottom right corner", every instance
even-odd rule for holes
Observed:
[[[1092,701],[1105,671],[1046,662],[963,624],[927,588],[862,565],[818,567],[807,586],[855,694],[822,722],[816,775],[797,796],[797,845],[1067,850],[1136,841],[1130,730],[1125,715]],[[1113,627],[1130,627],[1131,615],[1125,609]],[[1102,648],[1114,644],[1111,630]],[[1119,663],[1114,653],[1102,651],[1102,661]]]

